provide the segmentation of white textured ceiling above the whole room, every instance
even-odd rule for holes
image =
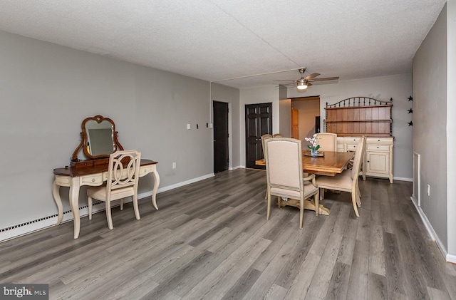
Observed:
[[[236,88],[408,73],[445,0],[0,0],[0,30]],[[280,72],[285,70],[293,70]],[[261,75],[258,74],[267,74]],[[230,78],[239,78],[227,80]]]

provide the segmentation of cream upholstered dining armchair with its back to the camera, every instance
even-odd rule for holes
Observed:
[[[299,228],[303,227],[304,200],[314,196],[318,205],[318,188],[315,175],[303,178],[301,140],[294,138],[270,138],[265,140],[265,160],[267,178],[266,219],[271,215],[271,197],[298,200]],[[280,202],[278,202],[280,207]],[[298,205],[296,205],[298,206]],[[318,210],[316,210],[318,215]]]

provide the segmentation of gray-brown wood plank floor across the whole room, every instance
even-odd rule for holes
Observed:
[[[50,299],[456,299],[445,262],[410,200],[412,184],[361,181],[326,192],[329,216],[273,207],[266,173],[239,169],[0,244],[0,282],[49,284]]]

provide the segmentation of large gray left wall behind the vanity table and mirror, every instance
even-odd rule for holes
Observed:
[[[213,175],[209,82],[4,31],[0,45],[0,229],[56,214],[52,170],[69,165],[89,116],[112,118],[125,149],[159,162],[161,188]]]

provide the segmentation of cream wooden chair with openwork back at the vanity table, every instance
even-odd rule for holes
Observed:
[[[92,219],[93,199],[105,202],[106,219],[109,229],[113,229],[111,217],[111,201],[133,197],[133,208],[136,219],[140,219],[138,208],[138,182],[141,152],[137,150],[120,150],[109,155],[108,179],[106,185],[89,187],[88,218]],[[123,208],[123,202],[121,203]]]

